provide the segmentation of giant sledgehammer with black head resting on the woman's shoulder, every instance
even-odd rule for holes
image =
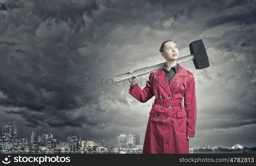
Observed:
[[[197,41],[192,41],[189,44],[189,49],[191,54],[178,58],[176,60],[176,63],[183,63],[189,60],[193,60],[196,69],[203,69],[210,66],[205,45],[202,39]],[[118,83],[118,82],[133,78],[132,75],[142,76],[160,69],[161,67],[163,67],[165,63],[166,62],[157,64],[151,67],[144,67],[142,69],[134,70],[132,73],[121,74],[116,76],[114,80],[116,83]]]

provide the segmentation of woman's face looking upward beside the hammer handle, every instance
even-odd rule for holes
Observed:
[[[161,55],[166,59],[166,61],[175,60],[179,57],[178,46],[173,41],[167,41],[164,43],[164,48],[162,51],[163,52],[161,52]]]

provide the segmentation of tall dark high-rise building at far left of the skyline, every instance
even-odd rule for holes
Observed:
[[[12,149],[12,138],[17,137],[16,125],[3,125],[3,146],[5,150]]]

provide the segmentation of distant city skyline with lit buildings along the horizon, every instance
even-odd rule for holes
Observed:
[[[10,130],[11,128],[11,130]],[[7,132],[9,132],[8,134],[6,134],[6,129]],[[1,134],[2,133],[2,134]],[[4,134],[5,133],[5,134]],[[18,137],[17,136],[17,127],[15,125],[3,125],[2,126],[2,131],[0,132],[0,147],[12,147],[15,148],[15,144],[19,144],[20,141],[16,141],[16,139],[20,139],[22,140],[22,142],[20,144],[22,144],[22,146],[31,146],[32,148],[36,148],[38,143],[44,143],[43,146],[46,147],[46,150],[54,150],[57,148],[60,148],[62,150],[65,150],[66,148],[68,149],[80,149],[80,147],[89,147],[89,146],[98,146],[99,144],[101,144],[100,146],[113,146],[113,147],[117,147],[117,148],[134,148],[136,147],[135,145],[140,145],[138,141],[136,141],[136,138],[140,137],[140,134],[138,132],[134,132],[134,133],[128,133],[127,135],[124,134],[120,134],[117,135],[117,145],[111,145],[111,144],[105,144],[105,138],[102,140],[101,143],[97,143],[97,141],[94,140],[82,140],[81,137],[76,136],[76,135],[72,135],[72,136],[67,136],[67,141],[63,142],[63,141],[59,141],[53,138],[53,133],[40,133],[38,131],[32,131],[31,132],[31,143],[28,143],[29,140],[26,137]],[[6,139],[6,135],[10,137],[10,134],[13,135],[13,137],[16,137],[16,139],[12,140],[12,144],[10,143],[3,143],[4,141],[4,137]],[[32,141],[34,140],[34,141]],[[135,143],[133,143],[133,141],[135,141]],[[46,143],[46,144],[45,144]],[[47,145],[47,143],[49,143],[50,145]],[[129,143],[132,143],[134,146],[130,145]],[[26,144],[26,145],[25,145]],[[19,145],[17,145],[19,146]],[[16,147],[17,147],[16,146]],[[76,147],[74,147],[76,146]],[[5,150],[6,150],[5,147]],[[48,148],[49,147],[49,148]],[[62,148],[64,147],[64,148]],[[143,148],[143,145],[141,145],[141,147]],[[222,147],[222,148],[243,148],[241,145],[237,144],[237,145],[233,145],[232,147],[229,146],[223,146],[223,145],[213,145],[213,144],[200,144],[200,143],[196,143],[193,146],[190,145],[190,148],[195,149],[214,149],[214,148],[218,148],[218,147]],[[244,146],[246,147],[246,146]],[[252,148],[252,147],[247,147],[247,148]],[[23,148],[25,149],[25,148]],[[7,149],[7,150],[11,150],[11,149]]]

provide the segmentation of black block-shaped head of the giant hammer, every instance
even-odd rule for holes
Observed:
[[[193,60],[196,69],[203,69],[209,67],[209,60],[206,53],[205,45],[202,39],[193,41],[189,44],[190,53],[194,54]]]

